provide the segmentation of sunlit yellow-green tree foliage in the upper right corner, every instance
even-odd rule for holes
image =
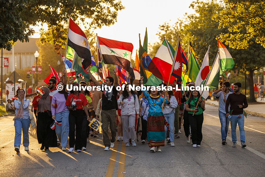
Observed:
[[[265,1],[224,0],[224,3],[226,8],[216,13],[214,19],[220,28],[228,29],[221,35],[226,44],[246,49],[256,42],[265,47]]]

